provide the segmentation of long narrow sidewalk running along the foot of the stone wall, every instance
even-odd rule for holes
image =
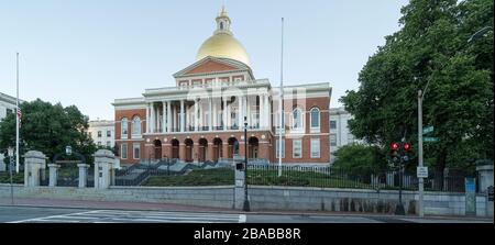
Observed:
[[[63,209],[95,209],[95,210],[136,210],[136,211],[173,211],[173,212],[213,212],[213,213],[245,213],[261,215],[334,215],[334,216],[389,216],[400,219],[421,219],[417,215],[396,216],[394,214],[383,213],[359,213],[359,212],[331,212],[331,211],[287,211],[287,210],[256,210],[244,212],[242,210],[185,205],[174,203],[152,203],[152,202],[125,202],[125,201],[87,201],[87,200],[62,200],[62,199],[40,199],[40,198],[15,198],[14,204],[11,204],[10,198],[0,198],[1,207],[33,207],[33,208],[63,208]],[[471,220],[471,221],[492,221],[492,218],[475,216],[432,216],[427,215],[428,220]]]

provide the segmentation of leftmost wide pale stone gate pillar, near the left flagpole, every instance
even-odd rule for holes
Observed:
[[[47,157],[37,151],[29,151],[24,154],[24,186],[40,186],[40,169],[44,169]]]

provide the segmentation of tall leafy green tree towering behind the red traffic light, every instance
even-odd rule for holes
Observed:
[[[493,159],[493,1],[411,0],[402,9],[402,30],[360,73],[360,88],[341,98],[354,115],[351,132],[381,147],[406,137],[417,144],[417,91],[429,81],[424,123],[440,142],[425,145],[437,176],[446,167]],[[441,181],[440,181],[441,182]]]

